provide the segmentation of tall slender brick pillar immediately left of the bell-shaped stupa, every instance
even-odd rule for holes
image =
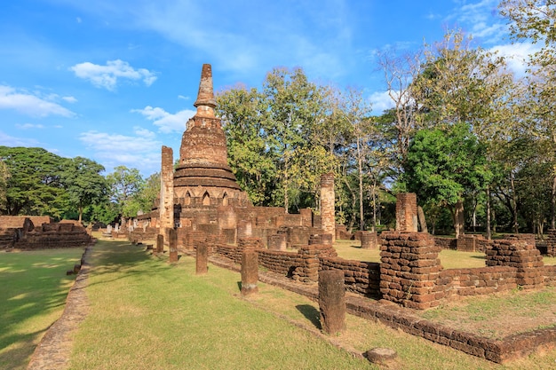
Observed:
[[[174,228],[174,163],[170,147],[163,146],[160,176],[160,233],[168,236],[168,230]]]

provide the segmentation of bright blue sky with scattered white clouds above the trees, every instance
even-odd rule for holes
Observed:
[[[0,145],[160,168],[179,155],[203,63],[215,91],[260,87],[273,67],[365,91],[387,107],[377,51],[412,50],[462,28],[524,55],[494,0],[18,0],[0,4]],[[519,71],[519,60],[512,64]]]

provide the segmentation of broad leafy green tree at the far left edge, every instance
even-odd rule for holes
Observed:
[[[67,159],[43,148],[0,146],[0,161],[11,175],[7,179],[4,214],[61,215],[64,191],[60,175]]]

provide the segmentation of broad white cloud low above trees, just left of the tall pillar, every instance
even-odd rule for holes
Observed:
[[[106,164],[107,168],[124,165],[145,171],[160,168],[160,148],[162,143],[154,134],[145,135],[148,130],[135,128],[135,136],[88,131],[79,140],[94,152],[94,157]]]

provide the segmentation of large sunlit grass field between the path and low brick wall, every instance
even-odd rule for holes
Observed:
[[[170,265],[125,242],[100,241],[92,263],[91,311],[75,336],[72,369],[377,368],[298,328],[319,328],[318,305],[304,296],[259,283],[245,300],[239,273],[210,265],[195,276],[191,257]],[[346,326],[330,340],[359,351],[393,348],[403,369],[556,364],[554,351],[498,366],[351,315]]]

